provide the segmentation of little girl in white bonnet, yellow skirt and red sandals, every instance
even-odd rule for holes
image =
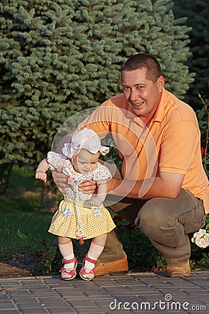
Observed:
[[[66,189],[64,200],[52,218],[49,232],[58,236],[59,250],[63,255],[61,278],[71,280],[76,276],[77,260],[72,246],[72,239],[92,239],[88,253],[84,257],[79,276],[91,281],[95,275],[95,263],[104,249],[107,232],[116,227],[102,202],[107,195],[107,180],[111,173],[98,162],[100,154],[109,152],[108,147],[101,145],[100,138],[91,129],[84,128],[72,136],[70,143],[64,144],[63,154],[49,151],[47,159],[38,165],[36,179],[47,181],[48,169],[61,167],[68,175],[69,188]],[[79,190],[82,181],[97,182],[97,195],[85,194]]]

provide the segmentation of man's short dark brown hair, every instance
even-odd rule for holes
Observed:
[[[137,70],[138,68],[146,68],[146,74],[148,80],[156,82],[158,77],[162,75],[162,69],[160,63],[155,59],[155,57],[150,54],[139,53],[134,54],[132,57],[127,59],[121,68],[121,73],[126,71]]]

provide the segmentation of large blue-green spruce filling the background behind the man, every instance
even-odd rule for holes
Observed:
[[[189,27],[168,0],[4,0],[0,3],[1,164],[40,161],[63,121],[121,92],[132,54],[160,63],[183,98],[193,73]]]

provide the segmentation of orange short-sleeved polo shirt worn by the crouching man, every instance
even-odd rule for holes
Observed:
[[[182,188],[200,197],[209,212],[208,178],[202,165],[196,114],[169,91],[162,92],[148,127],[132,112],[123,94],[100,105],[79,128],[84,126],[95,130],[101,139],[105,137],[102,144],[115,144],[123,159],[124,179],[150,179],[159,172],[185,174]],[[107,134],[113,142],[107,140]]]

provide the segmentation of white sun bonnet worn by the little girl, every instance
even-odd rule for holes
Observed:
[[[91,128],[84,128],[72,136],[70,143],[65,143],[62,152],[68,158],[74,158],[81,149],[86,149],[91,154],[100,152],[103,156],[109,153],[109,147],[102,146],[100,137]]]

